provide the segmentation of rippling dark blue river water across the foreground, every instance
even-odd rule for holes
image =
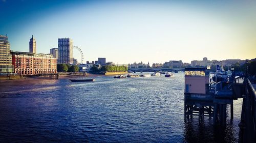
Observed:
[[[0,82],[0,142],[238,142],[242,100],[225,129],[184,123],[184,73],[175,77]]]

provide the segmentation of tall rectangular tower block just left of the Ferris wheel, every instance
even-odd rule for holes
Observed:
[[[73,40],[70,38],[58,39],[58,63],[73,64]]]

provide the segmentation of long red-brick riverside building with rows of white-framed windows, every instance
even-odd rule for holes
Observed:
[[[41,74],[57,73],[57,59],[52,54],[11,52],[14,73]]]

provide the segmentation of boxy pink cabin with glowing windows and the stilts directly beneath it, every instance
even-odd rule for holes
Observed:
[[[185,68],[184,119],[214,115],[214,91],[207,68]]]

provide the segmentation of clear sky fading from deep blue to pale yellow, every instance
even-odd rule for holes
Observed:
[[[34,35],[38,53],[69,37],[85,61],[256,58],[256,1],[0,0],[0,11],[14,51],[28,52]]]

